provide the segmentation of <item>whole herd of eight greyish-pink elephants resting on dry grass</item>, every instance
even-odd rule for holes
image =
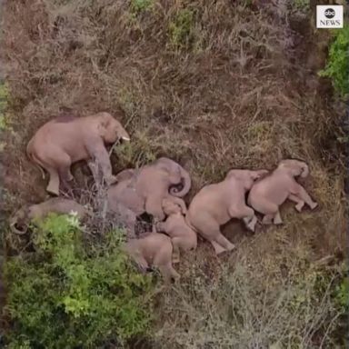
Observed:
[[[17,211],[10,222],[13,232],[24,234],[23,227],[30,220],[49,213],[75,212],[82,219],[93,214],[74,200],[59,196],[60,189],[69,187],[73,179],[71,165],[82,160],[87,161],[95,181],[100,175],[106,185],[107,210],[118,214],[117,223],[127,232],[125,252],[143,271],[157,267],[166,282],[179,278],[173,264],[179,262],[181,252],[196,249],[197,234],[213,245],[215,254],[222,254],[234,249],[220,230],[232,218],[242,219],[254,232],[255,212],[264,215],[262,224],[283,223],[279,207],[286,199],[293,201],[299,212],[304,204],[311,209],[317,206],[295,179],[306,177],[308,166],[286,159],[272,172],[233,169],[222,182],[205,185],[186,207],[183,197],[191,189],[190,175],[169,158],[161,157],[113,175],[105,145],[119,139],[130,141],[130,136],[104,112],[85,117],[60,116],[39,128],[26,151],[29,159],[48,173],[46,190],[56,197]],[[136,218],[144,213],[153,216],[153,229],[136,237]]]

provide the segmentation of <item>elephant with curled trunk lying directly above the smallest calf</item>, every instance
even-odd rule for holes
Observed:
[[[108,189],[108,201],[124,204],[136,215],[152,214],[156,220],[165,219],[162,202],[165,198],[176,200],[187,194],[191,187],[190,175],[173,160],[161,157],[137,170],[127,169],[116,175],[121,182]],[[183,185],[178,190],[178,185]],[[182,200],[177,200],[182,204]]]

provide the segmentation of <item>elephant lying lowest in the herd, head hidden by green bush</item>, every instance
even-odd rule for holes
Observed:
[[[171,239],[165,234],[147,233],[139,239],[130,239],[125,244],[125,251],[143,271],[151,265],[159,268],[166,283],[180,278],[172,264]]]

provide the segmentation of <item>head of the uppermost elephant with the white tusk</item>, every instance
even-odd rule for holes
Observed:
[[[117,139],[130,140],[130,135],[125,128],[112,115],[99,113],[97,118],[99,132],[105,143],[115,143]]]

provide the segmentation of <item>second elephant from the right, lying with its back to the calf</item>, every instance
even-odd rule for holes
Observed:
[[[220,231],[220,225],[231,218],[244,219],[246,226],[254,231],[257,218],[254,210],[245,204],[244,196],[254,181],[266,173],[266,170],[231,170],[224,181],[206,185],[194,196],[186,221],[213,244],[216,254],[234,249],[234,244]]]

